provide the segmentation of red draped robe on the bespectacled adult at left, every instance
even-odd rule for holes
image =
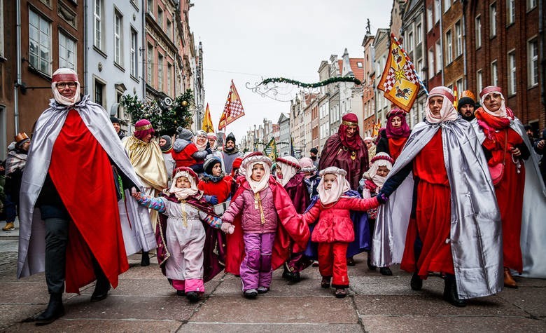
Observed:
[[[113,287],[129,269],[112,167],[106,151],[69,111],[51,153],[49,175],[72,219],[66,248],[66,292],[96,279],[91,253]]]

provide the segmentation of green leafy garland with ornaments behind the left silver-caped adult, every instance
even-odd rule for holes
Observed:
[[[183,106],[183,104],[186,104],[186,106]],[[193,105],[193,92],[191,89],[177,96],[171,106],[165,110],[160,108],[158,101],[142,102],[136,95],[124,95],[120,105],[127,114],[131,115],[133,122],[148,119],[155,131],[161,135],[174,135],[176,128],[179,126],[187,128],[192,124],[190,107]]]

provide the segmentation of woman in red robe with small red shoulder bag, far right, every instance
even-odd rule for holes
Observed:
[[[487,165],[491,170],[503,224],[504,285],[515,288],[517,283],[510,269],[520,274],[523,270],[519,245],[525,187],[523,160],[529,158],[530,152],[523,138],[510,128],[515,116],[512,110],[505,107],[500,87],[486,87],[479,97],[482,107],[476,110],[475,116],[485,134],[482,146],[491,156]]]

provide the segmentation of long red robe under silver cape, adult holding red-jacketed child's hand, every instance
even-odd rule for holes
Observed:
[[[450,238],[451,189],[444,163],[442,131],[438,130],[430,142],[415,156],[413,174],[419,178],[415,219],[409,220],[406,245],[400,268],[417,271],[422,279],[428,272],[454,274]],[[415,261],[414,243],[423,244]]]

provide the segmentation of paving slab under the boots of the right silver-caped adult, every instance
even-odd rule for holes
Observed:
[[[457,308],[442,299],[441,294],[412,296],[354,296],[360,318],[374,315],[468,315],[526,317],[520,308],[500,297],[490,296],[468,300],[465,308]]]

